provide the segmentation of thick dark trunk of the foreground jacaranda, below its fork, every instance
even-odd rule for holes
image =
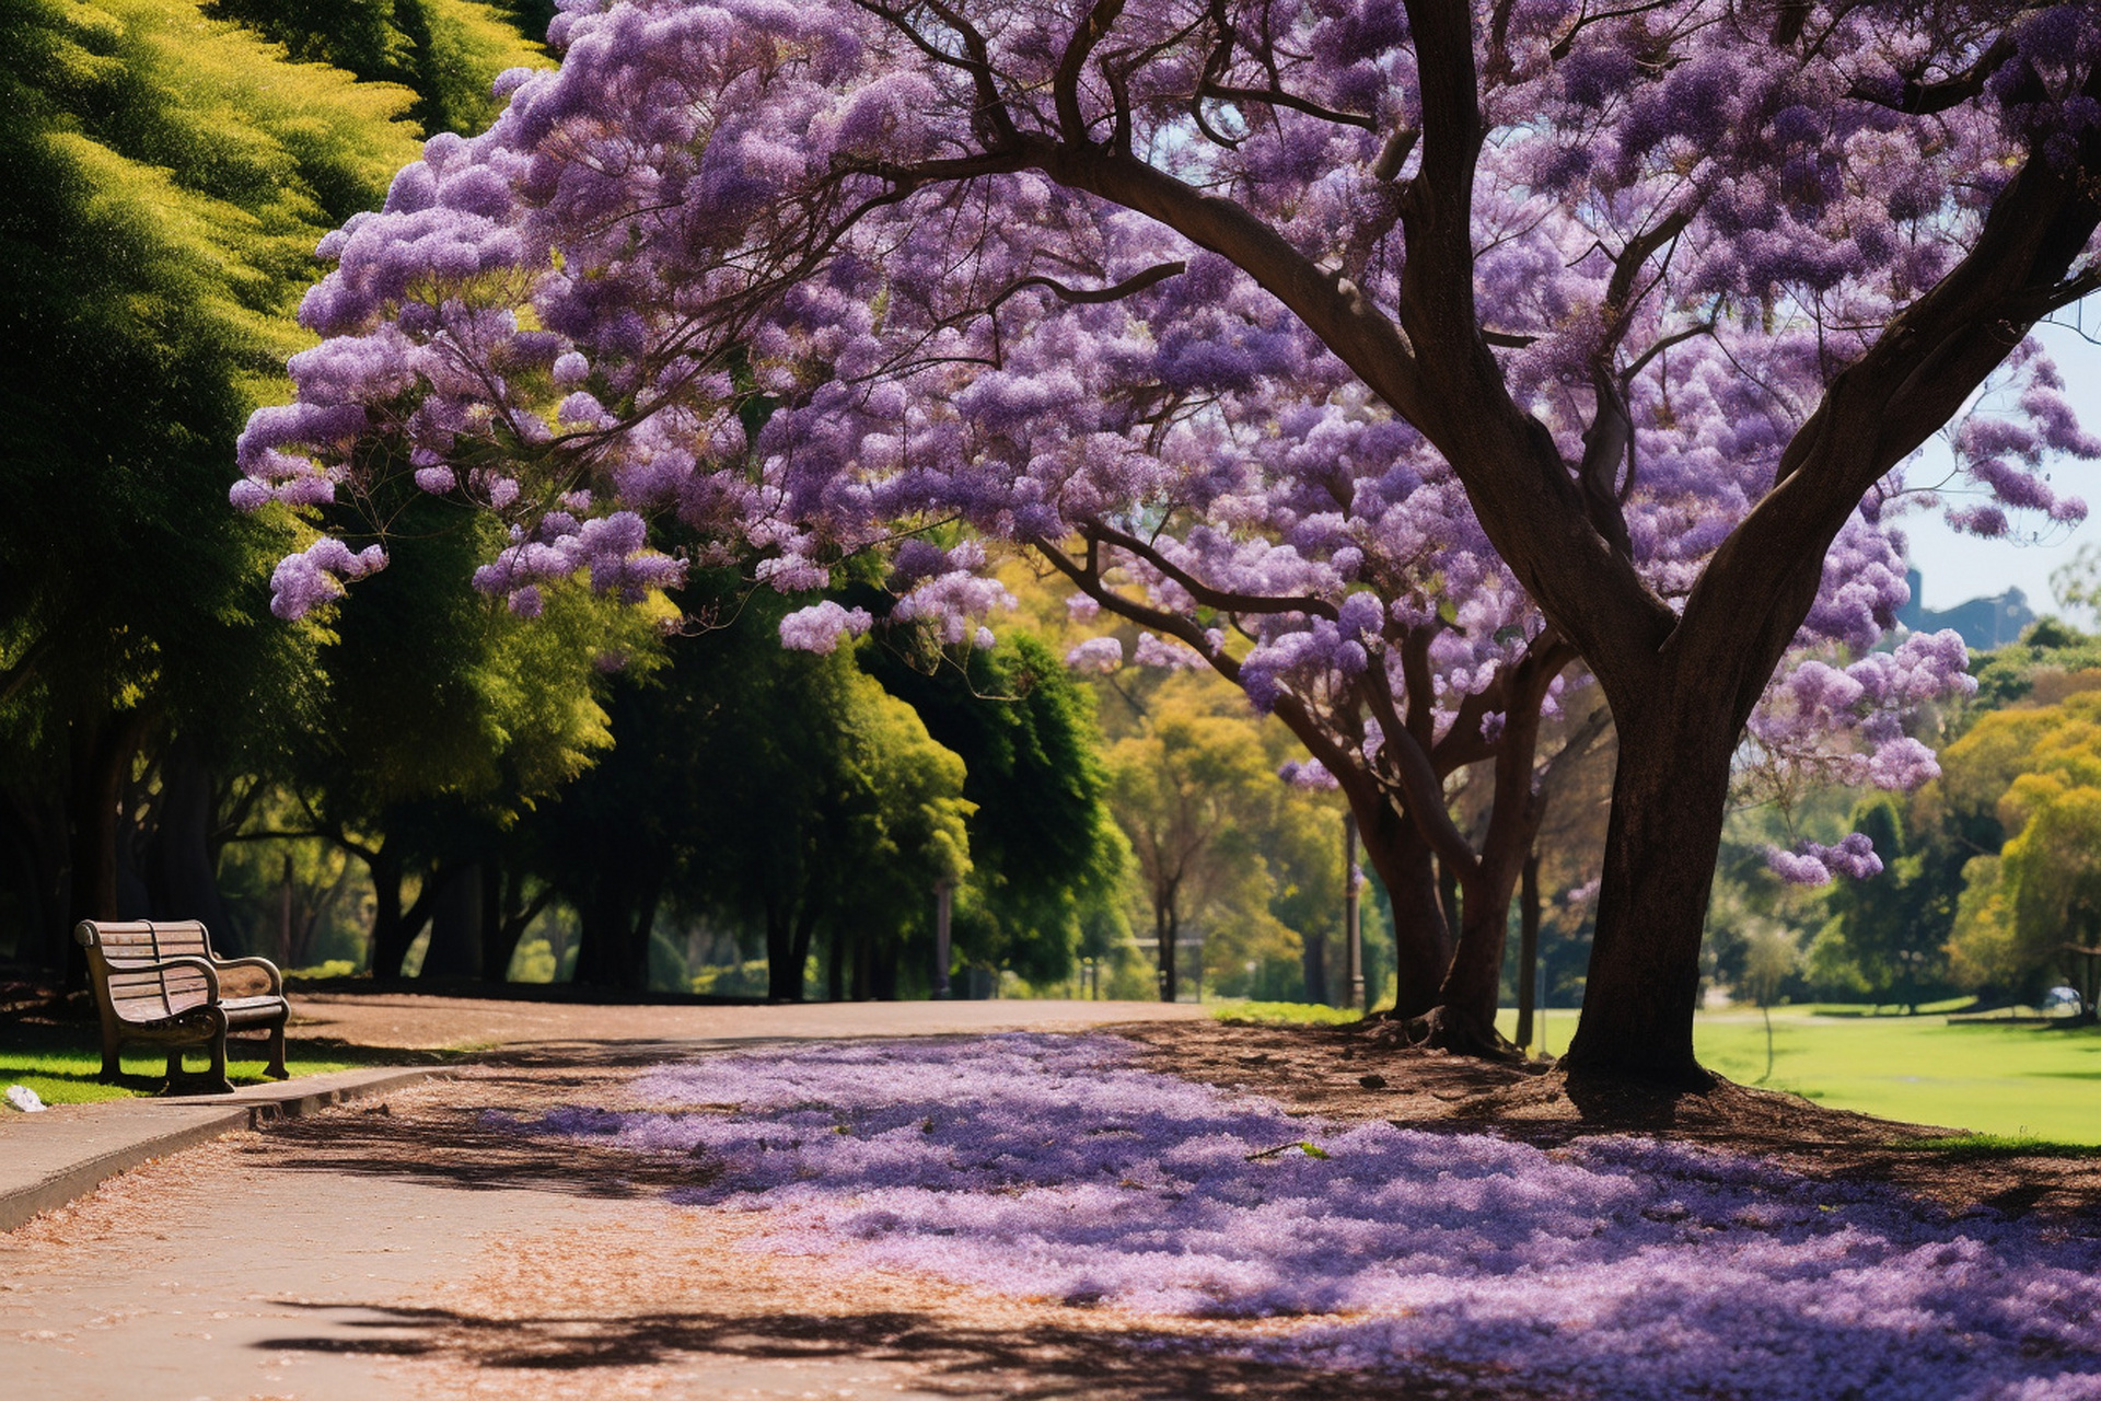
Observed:
[[[1693,1059],[1693,1004],[1738,739],[1712,710],[1664,699],[1620,723],[1574,1073],[1712,1084]]]

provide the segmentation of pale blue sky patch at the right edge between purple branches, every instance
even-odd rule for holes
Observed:
[[[2101,307],[2088,307],[2088,330],[2101,334]],[[2101,431],[2101,347],[2082,338],[2069,326],[2042,328],[2042,340],[2057,359],[2065,376],[2065,389],[2078,403],[2080,418],[2088,431]],[[1927,447],[1927,464],[1912,473],[1914,481],[1935,479],[1933,462],[1948,462],[1948,452],[1939,441]],[[2101,462],[2057,462],[2051,468],[2051,485],[2086,498],[2093,515],[2076,529],[2051,525],[2048,521],[2023,521],[2015,517],[2015,529],[2027,531],[2027,540],[1977,540],[1958,536],[1941,523],[1939,513],[1914,513],[1901,525],[1912,546],[1912,565],[1918,567],[1925,588],[1925,607],[1943,609],[1964,599],[2004,592],[2017,586],[2027,594],[2027,605],[2038,613],[2051,611],[2051,571],[2065,565],[2082,544],[2101,544]],[[2044,527],[2038,529],[2036,527]],[[2074,618],[2090,626],[2090,618]]]

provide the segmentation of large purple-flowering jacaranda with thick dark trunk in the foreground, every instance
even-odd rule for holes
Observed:
[[[1565,647],[1620,746],[1576,1069],[1700,1080],[1731,758],[1790,649],[1887,624],[1920,443],[1956,424],[1971,529],[2084,513],[2027,332],[2101,288],[2086,4],[651,0],[550,42],[324,242],[237,502],[414,473],[511,519],[479,582],[525,613],[674,578],[643,510],[782,588],[960,521],[1214,666],[1372,676],[1301,739],[1431,825],[1410,716],[1488,739],[1469,697]],[[288,559],[279,611],[376,559]],[[903,552],[897,611],[969,636],[981,561]]]

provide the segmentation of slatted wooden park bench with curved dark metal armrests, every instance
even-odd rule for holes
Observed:
[[[292,1006],[284,1000],[284,977],[267,958],[219,958],[197,920],[82,920],[74,928],[88,952],[95,1008],[103,1019],[103,1080],[118,1078],[118,1052],[126,1042],[168,1048],[168,1088],[183,1075],[183,1048],[202,1046],[212,1067],[195,1088],[231,1094],[227,1084],[227,1031],[269,1027],[269,1067],[284,1080],[284,1023]],[[225,998],[219,975],[227,968],[258,968],[269,991]],[[187,1086],[185,1086],[187,1088]]]

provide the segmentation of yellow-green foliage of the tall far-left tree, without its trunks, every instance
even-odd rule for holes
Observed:
[[[13,0],[0,48],[0,475],[40,517],[0,536],[4,645],[63,639],[61,706],[162,678],[193,714],[248,702],[258,657],[300,657],[261,609],[284,521],[227,508],[233,437],[282,393],[313,242],[412,155],[408,95],[176,0]]]

